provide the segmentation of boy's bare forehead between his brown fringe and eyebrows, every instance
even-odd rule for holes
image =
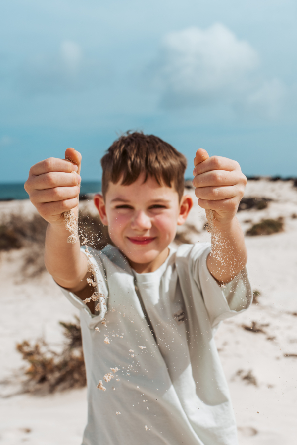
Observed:
[[[158,199],[158,198],[174,198],[178,196],[174,187],[168,187],[164,182],[159,185],[156,179],[148,176],[146,182],[145,174],[139,175],[137,180],[129,185],[122,184],[122,178],[117,182],[110,182],[106,192],[106,198],[115,200],[121,198],[122,200],[130,200],[137,198]]]

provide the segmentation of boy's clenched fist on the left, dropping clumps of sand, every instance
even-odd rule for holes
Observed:
[[[62,213],[78,215],[81,154],[67,148],[65,159],[49,158],[31,167],[25,190],[39,214],[50,224],[62,224]]]

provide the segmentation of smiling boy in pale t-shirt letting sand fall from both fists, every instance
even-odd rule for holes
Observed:
[[[81,155],[67,148],[65,158],[34,165],[25,188],[49,222],[47,269],[80,309],[83,445],[237,444],[213,329],[252,300],[236,219],[247,182],[238,163],[197,151],[193,184],[211,220],[212,251],[209,243],[175,250],[176,227],[193,205],[183,196],[186,159],[155,136],[120,137],[101,160],[94,199],[114,246],[88,248],[88,266],[79,242],[67,244],[63,218],[78,214]]]

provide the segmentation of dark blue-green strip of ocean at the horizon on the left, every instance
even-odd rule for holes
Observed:
[[[101,191],[101,181],[82,181],[80,196]],[[0,183],[0,201],[12,201],[14,199],[29,199],[24,189],[24,183]]]

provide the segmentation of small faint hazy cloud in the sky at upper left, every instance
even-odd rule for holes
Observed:
[[[27,94],[57,94],[96,85],[103,67],[83,54],[73,41],[61,42],[54,54],[39,54],[26,60],[20,69],[18,86]]]

